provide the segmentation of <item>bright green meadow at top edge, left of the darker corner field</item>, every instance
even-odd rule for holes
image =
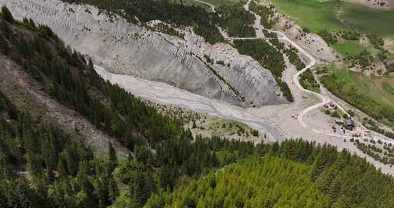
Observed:
[[[335,16],[334,1],[315,0],[272,0],[272,3],[287,16],[291,16],[298,25],[318,33],[324,29],[349,29]]]

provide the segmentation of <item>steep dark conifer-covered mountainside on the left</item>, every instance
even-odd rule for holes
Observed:
[[[107,148],[100,151],[107,152],[108,160],[98,157],[100,155],[90,148],[94,144],[88,143],[109,140],[84,141],[88,135],[78,135],[78,129],[77,133],[68,131],[67,124],[62,123],[64,120],[47,120],[44,113],[66,117],[67,112],[63,111],[66,110],[79,114],[99,129],[95,131],[116,138],[134,152],[136,160],[130,155],[129,161],[116,169],[122,172],[118,180],[120,177],[133,180],[133,183],[122,183],[129,187],[122,194],[138,195],[133,199],[134,207],[141,207],[150,192],[157,188],[153,180],[157,168],[170,168],[162,174],[172,174],[188,159],[178,157],[175,158],[178,162],[173,164],[172,155],[165,155],[174,153],[170,148],[179,145],[170,144],[185,142],[183,147],[189,149],[209,144],[209,140],[191,144],[191,133],[184,131],[180,122],[162,116],[140,99],[103,81],[93,70],[92,62],[86,62],[79,53],[65,47],[49,27],[27,19],[17,22],[10,11],[3,8],[0,42],[0,64],[4,66],[0,85],[1,207],[106,207],[120,193],[119,181],[112,177],[117,166],[113,146],[110,143],[99,146]],[[14,79],[13,75],[23,77]],[[17,83],[12,85],[6,79]],[[14,87],[18,89],[12,91]],[[44,99],[44,104],[39,99]],[[45,105],[46,102],[50,103]],[[56,107],[66,109],[57,112]],[[154,158],[148,145],[163,151],[161,157]],[[188,154],[193,152],[196,152],[194,157],[198,155],[201,159],[190,161],[191,167],[182,170],[183,174],[199,174],[211,164],[217,166],[211,162],[213,157],[209,149],[187,151]],[[201,161],[207,164],[199,166]],[[146,179],[140,181],[140,177]],[[140,184],[135,184],[135,180]],[[170,182],[161,183],[165,187]]]

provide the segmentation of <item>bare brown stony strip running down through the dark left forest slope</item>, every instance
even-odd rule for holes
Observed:
[[[118,153],[127,155],[114,138],[99,131],[86,118],[75,110],[62,105],[42,90],[44,87],[32,79],[14,62],[0,55],[0,89],[1,92],[21,111],[29,109],[33,118],[64,129],[80,141],[86,142],[95,153],[105,155],[108,143],[116,144]]]

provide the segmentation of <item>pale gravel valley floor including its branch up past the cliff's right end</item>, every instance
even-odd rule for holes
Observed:
[[[248,10],[247,6],[246,9]],[[259,20],[259,18],[257,18],[257,20]],[[261,27],[255,28],[261,29]],[[352,133],[358,131],[363,133],[365,129],[363,129],[361,125],[358,126],[356,131],[348,131],[345,135],[339,135],[339,133],[332,132],[332,127],[335,127],[332,118],[322,114],[319,108],[311,111],[304,111],[306,107],[311,105],[318,106],[316,103],[320,103],[321,101],[313,94],[306,94],[306,92],[303,92],[297,84],[294,83],[293,77],[298,71],[294,66],[289,64],[288,60],[287,69],[283,77],[291,89],[295,102],[291,104],[268,105],[248,109],[213,99],[207,99],[204,96],[192,94],[191,92],[169,86],[165,83],[147,81],[129,75],[111,74],[100,66],[96,66],[96,71],[104,79],[111,81],[111,83],[118,83],[132,94],[144,99],[165,105],[177,105],[192,109],[196,112],[204,112],[212,116],[244,122],[254,129],[259,129],[261,133],[265,133],[270,142],[283,141],[287,138],[304,138],[305,140],[315,141],[320,144],[332,144],[338,146],[340,150],[347,148],[356,155],[366,157],[367,161],[374,164],[376,168],[381,168],[382,172],[394,174],[394,169],[389,165],[384,165],[380,161],[376,161],[372,157],[365,155],[365,153],[360,151],[349,141],[350,138],[352,138]],[[324,90],[323,93],[324,96],[329,96]],[[298,114],[303,111],[305,113],[304,120],[302,118],[301,120],[304,122],[304,127],[300,124],[300,119],[297,119]],[[369,139],[394,143],[394,141],[386,140],[378,134],[369,135]],[[261,139],[257,139],[254,142],[263,142],[258,140]]]

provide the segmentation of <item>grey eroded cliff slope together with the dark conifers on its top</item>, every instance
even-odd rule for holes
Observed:
[[[76,2],[100,9],[60,0],[1,0],[0,5],[8,5],[19,19],[27,16],[49,25],[66,44],[112,73],[165,82],[244,107],[286,103],[269,70],[230,44],[213,44],[222,42],[210,40],[218,33],[214,25],[237,28],[219,22],[216,14],[166,1]]]

